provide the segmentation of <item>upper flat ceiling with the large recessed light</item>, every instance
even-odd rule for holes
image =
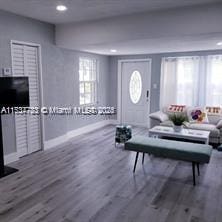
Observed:
[[[0,9],[61,24],[214,2],[221,0],[0,0]],[[58,4],[68,10],[57,12]]]

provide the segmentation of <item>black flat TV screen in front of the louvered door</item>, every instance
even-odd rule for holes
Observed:
[[[28,77],[0,77],[0,107],[28,106]]]

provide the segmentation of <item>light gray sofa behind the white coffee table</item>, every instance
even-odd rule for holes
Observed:
[[[151,127],[156,125],[173,126],[169,120],[169,114],[163,111],[157,111],[149,115]],[[222,143],[222,115],[208,114],[209,123],[191,123],[186,122],[185,127],[188,129],[210,131],[210,143]]]

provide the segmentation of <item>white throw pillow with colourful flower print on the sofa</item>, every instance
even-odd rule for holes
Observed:
[[[191,108],[188,110],[187,115],[191,123],[209,123],[207,112],[204,108]]]

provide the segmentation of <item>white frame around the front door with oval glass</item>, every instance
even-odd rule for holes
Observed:
[[[148,113],[150,113],[150,101],[151,101],[151,67],[152,67],[152,59],[150,58],[145,58],[145,59],[120,59],[118,60],[118,78],[117,78],[117,122],[121,123],[122,122],[122,65],[124,62],[149,62],[149,73],[150,75],[148,76],[149,79],[149,103],[148,103]],[[150,127],[150,120],[147,116],[147,127]]]

